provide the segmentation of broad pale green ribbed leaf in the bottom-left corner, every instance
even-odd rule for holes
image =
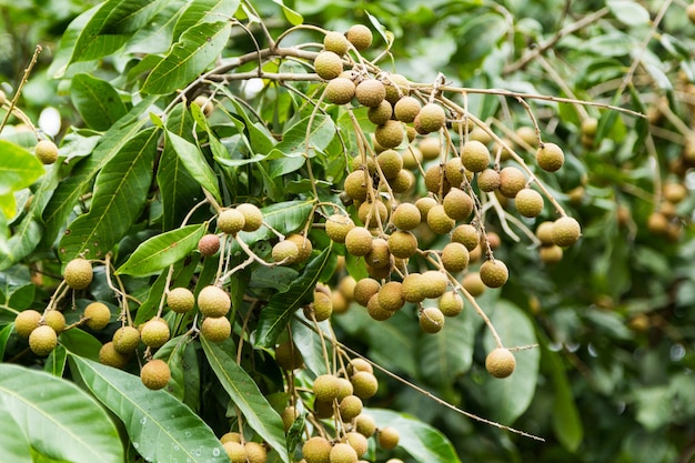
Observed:
[[[74,463],[123,461],[115,425],[97,401],[73,383],[0,364],[0,402],[40,454]]]

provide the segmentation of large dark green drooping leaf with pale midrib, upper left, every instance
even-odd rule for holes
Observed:
[[[104,165],[90,211],[70,223],[60,241],[64,260],[102,258],[128,232],[152,182],[158,139],[154,128],[145,129]]]

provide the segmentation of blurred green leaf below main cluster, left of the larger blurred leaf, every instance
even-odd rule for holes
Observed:
[[[430,384],[449,386],[471,368],[475,334],[469,312],[447,318],[441,332],[420,341],[420,371]]]

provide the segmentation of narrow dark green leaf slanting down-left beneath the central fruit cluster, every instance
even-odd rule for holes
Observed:
[[[294,311],[313,294],[321,272],[331,265],[333,259],[335,256],[329,246],[309,261],[300,278],[288,292],[278,293],[270,299],[268,305],[261,311],[256,334],[258,346],[270,348],[275,344],[275,340],[286,326]]]

